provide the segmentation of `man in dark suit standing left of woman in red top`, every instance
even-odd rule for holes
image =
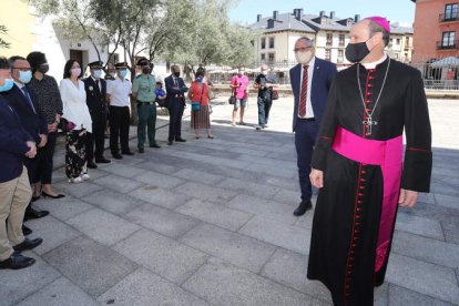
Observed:
[[[185,82],[180,78],[180,67],[171,67],[172,74],[164,79],[166,86],[165,106],[169,110],[169,139],[167,144],[172,145],[173,141],[186,142],[182,139],[182,116],[185,109],[185,92],[188,89]]]

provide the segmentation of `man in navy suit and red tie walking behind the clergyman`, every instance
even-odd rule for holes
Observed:
[[[298,64],[290,69],[290,83],[295,98],[293,131],[295,132],[298,178],[302,188],[302,202],[294,211],[294,215],[300,216],[313,207],[310,203],[313,190],[309,181],[310,159],[328,91],[336,75],[336,65],[316,58],[313,41],[308,38],[299,38],[294,51]]]

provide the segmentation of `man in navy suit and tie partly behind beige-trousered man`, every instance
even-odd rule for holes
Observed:
[[[48,124],[37,103],[33,90],[26,86],[32,79],[32,71],[29,62],[21,57],[11,57],[9,59],[11,75],[14,80],[13,88],[3,94],[9,105],[14,109],[21,120],[22,128],[33,137],[37,147],[40,150],[47,144]],[[35,182],[37,169],[40,164],[40,154],[34,159],[24,161],[28,170],[29,180],[32,184]],[[48,215],[48,211],[35,211],[32,208],[32,202],[26,210],[24,220],[40,218]],[[28,228],[26,228],[27,231]],[[28,231],[27,231],[28,232]]]

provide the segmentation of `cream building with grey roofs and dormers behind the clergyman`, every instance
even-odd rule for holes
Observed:
[[[359,20],[359,14],[343,19],[337,18],[334,11],[328,16],[325,11],[315,16],[304,14],[303,9],[295,9],[293,13],[274,11],[273,16],[266,18],[258,14],[257,21],[249,26],[261,33],[255,42],[256,62],[295,64],[295,41],[300,37],[307,37],[314,41],[318,58],[338,65],[348,65],[345,48],[349,43],[350,27]],[[409,24],[394,23],[390,37],[388,54],[400,61],[410,62],[412,28]]]

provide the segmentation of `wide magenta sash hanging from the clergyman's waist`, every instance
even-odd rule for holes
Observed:
[[[375,263],[375,272],[378,272],[388,255],[397,212],[402,167],[402,136],[387,141],[367,140],[338,126],[332,149],[349,160],[381,167],[384,197]]]

